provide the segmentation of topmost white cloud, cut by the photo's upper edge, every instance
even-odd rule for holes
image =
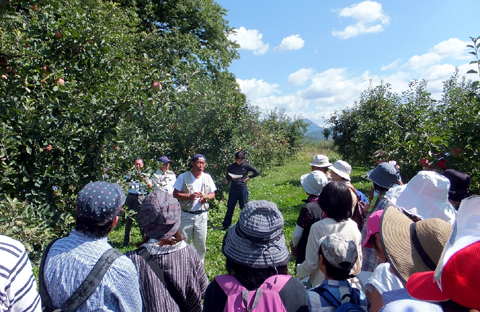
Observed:
[[[334,30],[332,35],[348,39],[366,33],[383,31],[390,24],[390,17],[382,11],[382,4],[375,1],[363,1],[343,9],[334,9],[340,17],[353,18],[355,24],[345,27],[342,31]]]

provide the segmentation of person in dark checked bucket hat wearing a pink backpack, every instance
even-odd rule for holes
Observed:
[[[245,205],[223,238],[228,274],[216,276],[208,285],[204,312],[309,310],[305,287],[288,275],[283,224],[274,203],[257,200]]]

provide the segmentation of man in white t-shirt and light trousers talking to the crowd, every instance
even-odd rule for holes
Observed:
[[[192,170],[182,173],[173,185],[173,197],[182,207],[180,233],[192,242],[202,261],[207,250],[208,201],[215,198],[217,187],[212,177],[203,172],[207,158],[195,154],[191,161]]]

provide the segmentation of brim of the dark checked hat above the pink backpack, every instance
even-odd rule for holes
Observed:
[[[237,264],[252,268],[269,268],[288,264],[290,253],[285,243],[285,237],[280,237],[267,244],[255,244],[237,234],[234,224],[228,229],[223,239],[223,254],[227,259]]]

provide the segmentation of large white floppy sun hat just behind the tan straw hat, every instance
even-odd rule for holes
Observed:
[[[387,199],[420,219],[439,218],[453,224],[457,211],[448,201],[450,181],[435,171],[423,170],[410,182],[391,188]]]

